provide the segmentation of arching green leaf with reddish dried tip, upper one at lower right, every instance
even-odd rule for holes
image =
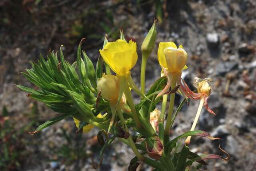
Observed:
[[[200,137],[206,137],[206,138],[212,139],[212,140],[214,140],[214,139],[220,139],[220,138],[214,138],[214,137],[212,137],[212,136],[211,136],[208,132],[206,132],[206,131],[200,131],[200,130],[198,130],[198,131],[188,131],[188,132],[186,132],[186,133],[184,133],[184,134],[182,134],[182,135],[180,135],[180,136],[178,136],[178,137],[172,139],[169,143],[167,143],[167,144],[166,144],[166,148],[167,148],[166,153],[170,153],[170,152],[172,151],[172,149],[173,149],[174,147],[176,147],[176,143],[177,143],[177,141],[178,141],[179,139],[181,139],[181,138],[183,138],[183,137],[188,137],[188,136],[200,136]]]

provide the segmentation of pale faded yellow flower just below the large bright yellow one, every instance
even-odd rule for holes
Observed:
[[[102,78],[98,80],[97,89],[98,92],[101,91],[100,95],[104,99],[116,104],[120,90],[120,82],[117,76],[103,74]]]

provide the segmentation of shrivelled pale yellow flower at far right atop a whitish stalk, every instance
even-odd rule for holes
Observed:
[[[200,80],[198,77],[194,78],[194,86],[196,87],[198,93],[204,93],[206,95],[210,95],[212,88],[210,87],[210,82],[212,82],[211,78],[204,78]]]

